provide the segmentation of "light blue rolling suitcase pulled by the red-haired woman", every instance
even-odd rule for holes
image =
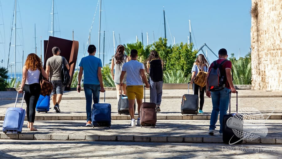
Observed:
[[[15,107],[7,108],[6,115],[3,122],[3,132],[6,133],[18,133],[20,134],[23,129],[25,109],[23,109],[23,102],[20,108],[16,107],[18,94],[15,102]]]

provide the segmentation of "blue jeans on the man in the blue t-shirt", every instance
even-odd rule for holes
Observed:
[[[93,94],[93,102],[99,103],[100,98],[100,85],[91,85],[91,84],[84,84],[84,93],[86,98],[86,121],[92,121],[91,119],[91,105],[92,105],[92,94]]]

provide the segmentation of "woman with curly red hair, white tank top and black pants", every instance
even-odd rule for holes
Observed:
[[[35,107],[41,90],[39,84],[40,72],[44,78],[48,78],[42,67],[40,58],[34,53],[29,54],[23,67],[22,84],[18,93],[22,93],[23,91],[25,92],[24,100],[26,102],[26,116],[28,120],[27,127],[30,131],[37,131],[33,124],[35,118]]]

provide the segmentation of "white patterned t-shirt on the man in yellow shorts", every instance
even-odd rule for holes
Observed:
[[[137,60],[130,60],[123,64],[122,71],[126,71],[126,85],[143,85],[140,69],[144,69],[144,64]]]

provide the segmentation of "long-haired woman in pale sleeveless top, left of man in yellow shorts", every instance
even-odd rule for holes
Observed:
[[[124,54],[124,46],[119,45],[116,50],[116,54],[112,57],[112,64],[111,64],[111,73],[112,79],[115,82],[115,86],[117,89],[117,99],[119,99],[119,95],[123,94],[126,95],[126,75],[124,76],[123,86],[120,86],[120,74],[122,72],[123,64],[128,62],[129,58]],[[113,70],[115,69],[115,73]]]

